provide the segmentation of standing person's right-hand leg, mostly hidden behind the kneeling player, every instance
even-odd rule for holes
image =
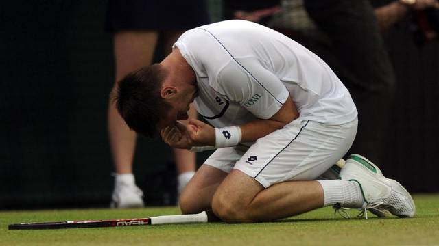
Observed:
[[[163,35],[163,45],[165,54],[169,54],[172,51],[172,45],[177,41],[178,37],[181,36],[183,31],[165,31]],[[198,118],[197,111],[195,107],[191,105],[191,108],[187,112],[189,118]],[[188,120],[182,120],[183,124],[187,124]],[[174,161],[176,163],[177,169],[177,181],[178,181],[178,195],[185,188],[186,184],[191,180],[192,176],[195,174],[196,166],[196,155],[194,152],[189,150],[181,150],[174,148]]]

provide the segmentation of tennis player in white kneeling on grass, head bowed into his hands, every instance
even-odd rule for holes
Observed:
[[[319,180],[350,148],[358,120],[346,87],[311,51],[244,20],[191,29],[173,48],[122,79],[116,101],[137,133],[216,149],[180,196],[182,213],[211,209],[245,223],[335,205],[414,216],[410,194],[363,156],[346,161],[340,180]],[[211,125],[178,122],[191,102]]]

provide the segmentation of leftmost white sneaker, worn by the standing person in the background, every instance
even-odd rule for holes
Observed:
[[[119,182],[115,184],[112,192],[111,208],[142,208],[143,192],[136,184],[126,184]]]

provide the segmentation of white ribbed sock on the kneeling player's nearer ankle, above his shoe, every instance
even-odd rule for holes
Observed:
[[[317,180],[323,188],[324,206],[339,203],[344,208],[361,208],[363,195],[357,182],[346,180]]]

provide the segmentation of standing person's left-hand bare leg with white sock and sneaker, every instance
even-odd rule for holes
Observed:
[[[115,33],[115,85],[128,72],[151,64],[157,38],[155,31]],[[143,193],[135,185],[132,174],[136,133],[123,122],[111,98],[108,105],[108,135],[116,171],[111,205],[119,208],[143,206]]]

